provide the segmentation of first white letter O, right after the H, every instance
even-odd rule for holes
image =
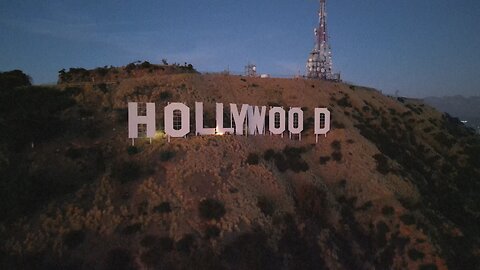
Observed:
[[[183,103],[168,104],[164,111],[164,124],[168,136],[181,138],[187,135],[190,132],[190,108]]]

